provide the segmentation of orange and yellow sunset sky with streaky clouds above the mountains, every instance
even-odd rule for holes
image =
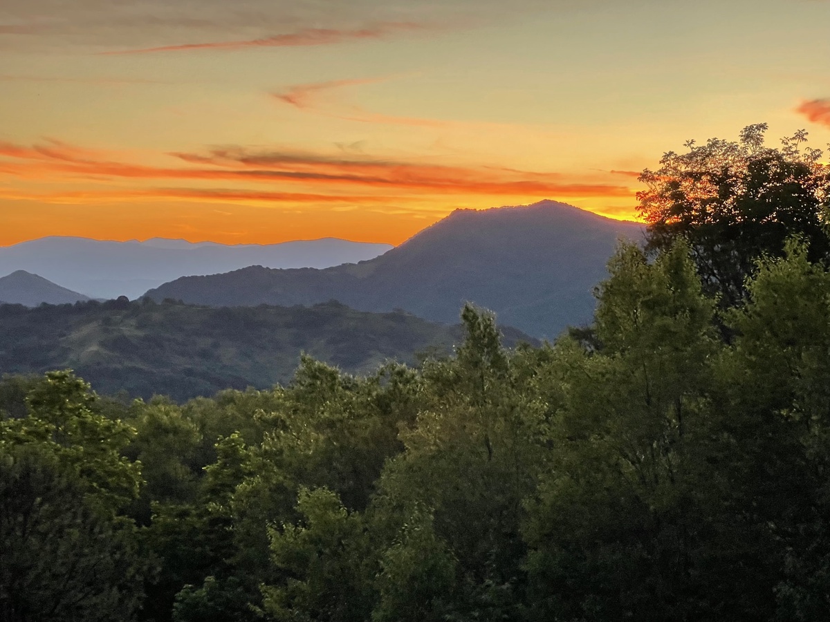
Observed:
[[[830,0],[2,0],[0,245],[637,218],[690,138],[830,142]]]

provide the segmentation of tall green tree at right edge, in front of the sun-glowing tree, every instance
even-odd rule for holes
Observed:
[[[730,412],[725,457],[742,464],[741,505],[775,574],[776,620],[830,617],[830,271],[789,241],[759,261],[749,301],[731,312],[720,363]],[[756,572],[756,581],[764,576]]]

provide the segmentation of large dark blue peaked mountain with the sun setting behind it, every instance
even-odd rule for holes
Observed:
[[[372,260],[325,270],[250,266],[177,279],[146,295],[211,305],[315,304],[337,299],[354,309],[406,309],[457,321],[471,301],[500,323],[538,338],[590,321],[593,288],[620,237],[638,241],[642,225],[554,201],[485,211],[457,210]]]

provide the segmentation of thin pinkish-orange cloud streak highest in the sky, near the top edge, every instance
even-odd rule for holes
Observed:
[[[101,52],[102,55],[112,56],[120,54],[148,54],[169,51],[196,51],[196,50],[242,50],[248,47],[297,47],[297,46],[329,46],[344,41],[360,41],[364,39],[383,39],[399,32],[423,30],[426,24],[417,22],[381,22],[373,26],[352,30],[335,28],[303,28],[297,32],[283,35],[265,36],[259,39],[242,41],[212,41],[208,43],[185,43],[177,46],[144,47],[134,50]]]

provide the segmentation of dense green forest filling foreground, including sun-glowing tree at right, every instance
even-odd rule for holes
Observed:
[[[0,620],[830,617],[828,169],[667,153],[593,323],[286,386],[0,385]]]

